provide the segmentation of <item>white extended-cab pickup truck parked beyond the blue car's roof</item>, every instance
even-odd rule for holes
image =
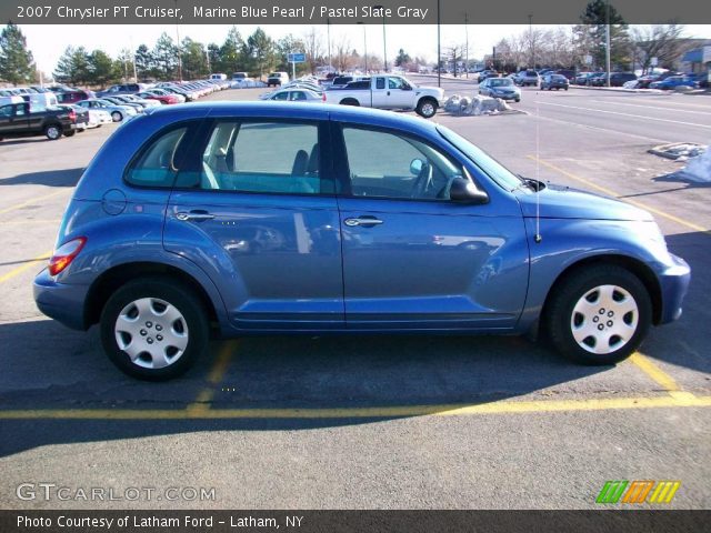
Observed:
[[[354,81],[326,91],[328,103],[362,108],[414,110],[420,117],[434,117],[444,101],[437,87],[418,87],[401,76],[373,76],[370,82]]]

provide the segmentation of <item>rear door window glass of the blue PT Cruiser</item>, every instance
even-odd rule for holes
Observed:
[[[319,128],[298,122],[219,122],[202,154],[199,187],[239,192],[322,192]]]

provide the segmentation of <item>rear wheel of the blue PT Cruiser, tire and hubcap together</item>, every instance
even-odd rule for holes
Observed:
[[[101,313],[101,342],[122,372],[162,381],[186,372],[209,339],[207,312],[180,283],[158,278],[118,289]]]

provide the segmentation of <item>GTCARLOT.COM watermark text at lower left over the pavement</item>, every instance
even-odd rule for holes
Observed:
[[[217,499],[214,487],[206,486],[66,486],[57,483],[20,483],[17,497],[23,501],[42,500],[46,502],[213,502]]]

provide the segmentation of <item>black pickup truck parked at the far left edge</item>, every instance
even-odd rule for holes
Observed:
[[[48,107],[30,111],[28,102],[0,107],[0,140],[13,137],[47,135],[57,140],[77,132],[77,113],[72,109]]]

